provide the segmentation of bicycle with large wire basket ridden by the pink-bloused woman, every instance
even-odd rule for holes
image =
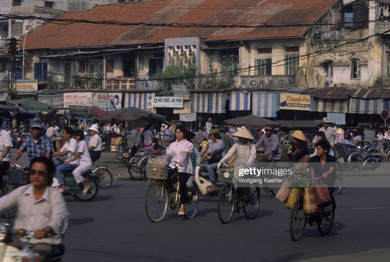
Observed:
[[[176,161],[171,162],[175,166],[178,165]],[[146,193],[145,209],[148,218],[153,222],[159,222],[165,217],[168,203],[172,210],[180,206],[180,185],[177,183],[175,187],[171,180],[167,179],[168,172],[168,163],[164,157],[150,156],[146,165],[146,173],[147,177],[155,179],[155,182],[150,185]],[[197,200],[193,200],[195,195],[192,192],[187,192],[185,218],[193,218],[199,206],[199,191],[195,184],[193,187]]]

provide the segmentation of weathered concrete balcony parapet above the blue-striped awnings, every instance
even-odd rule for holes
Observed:
[[[296,87],[295,75],[242,75],[242,88]]]

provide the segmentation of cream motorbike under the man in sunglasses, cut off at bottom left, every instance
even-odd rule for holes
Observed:
[[[34,236],[34,230],[14,229],[9,224],[0,223],[0,262],[15,262],[15,261],[39,261],[38,254],[33,254],[30,246],[30,239]],[[9,243],[14,238],[26,238],[27,243],[22,249],[18,249]],[[63,244],[53,246],[53,251],[49,262],[61,262],[65,255],[65,247]]]

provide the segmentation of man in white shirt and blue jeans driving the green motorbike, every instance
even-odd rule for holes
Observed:
[[[64,130],[62,131],[62,140],[64,140],[65,143],[59,151],[54,152],[53,156],[67,155],[66,161],[71,160],[75,156],[78,149],[78,142],[76,141],[76,139],[72,138],[74,133],[75,131],[73,130],[73,128],[64,128]],[[59,185],[61,186],[59,188],[60,192],[66,190],[63,172],[73,171],[73,169],[78,166],[78,162],[79,159],[76,159],[73,162],[69,162],[67,164],[60,164],[56,167],[56,173],[54,177],[58,179]]]

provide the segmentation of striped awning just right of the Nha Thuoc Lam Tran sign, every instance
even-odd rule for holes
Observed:
[[[226,93],[192,93],[191,112],[197,113],[225,113]]]

